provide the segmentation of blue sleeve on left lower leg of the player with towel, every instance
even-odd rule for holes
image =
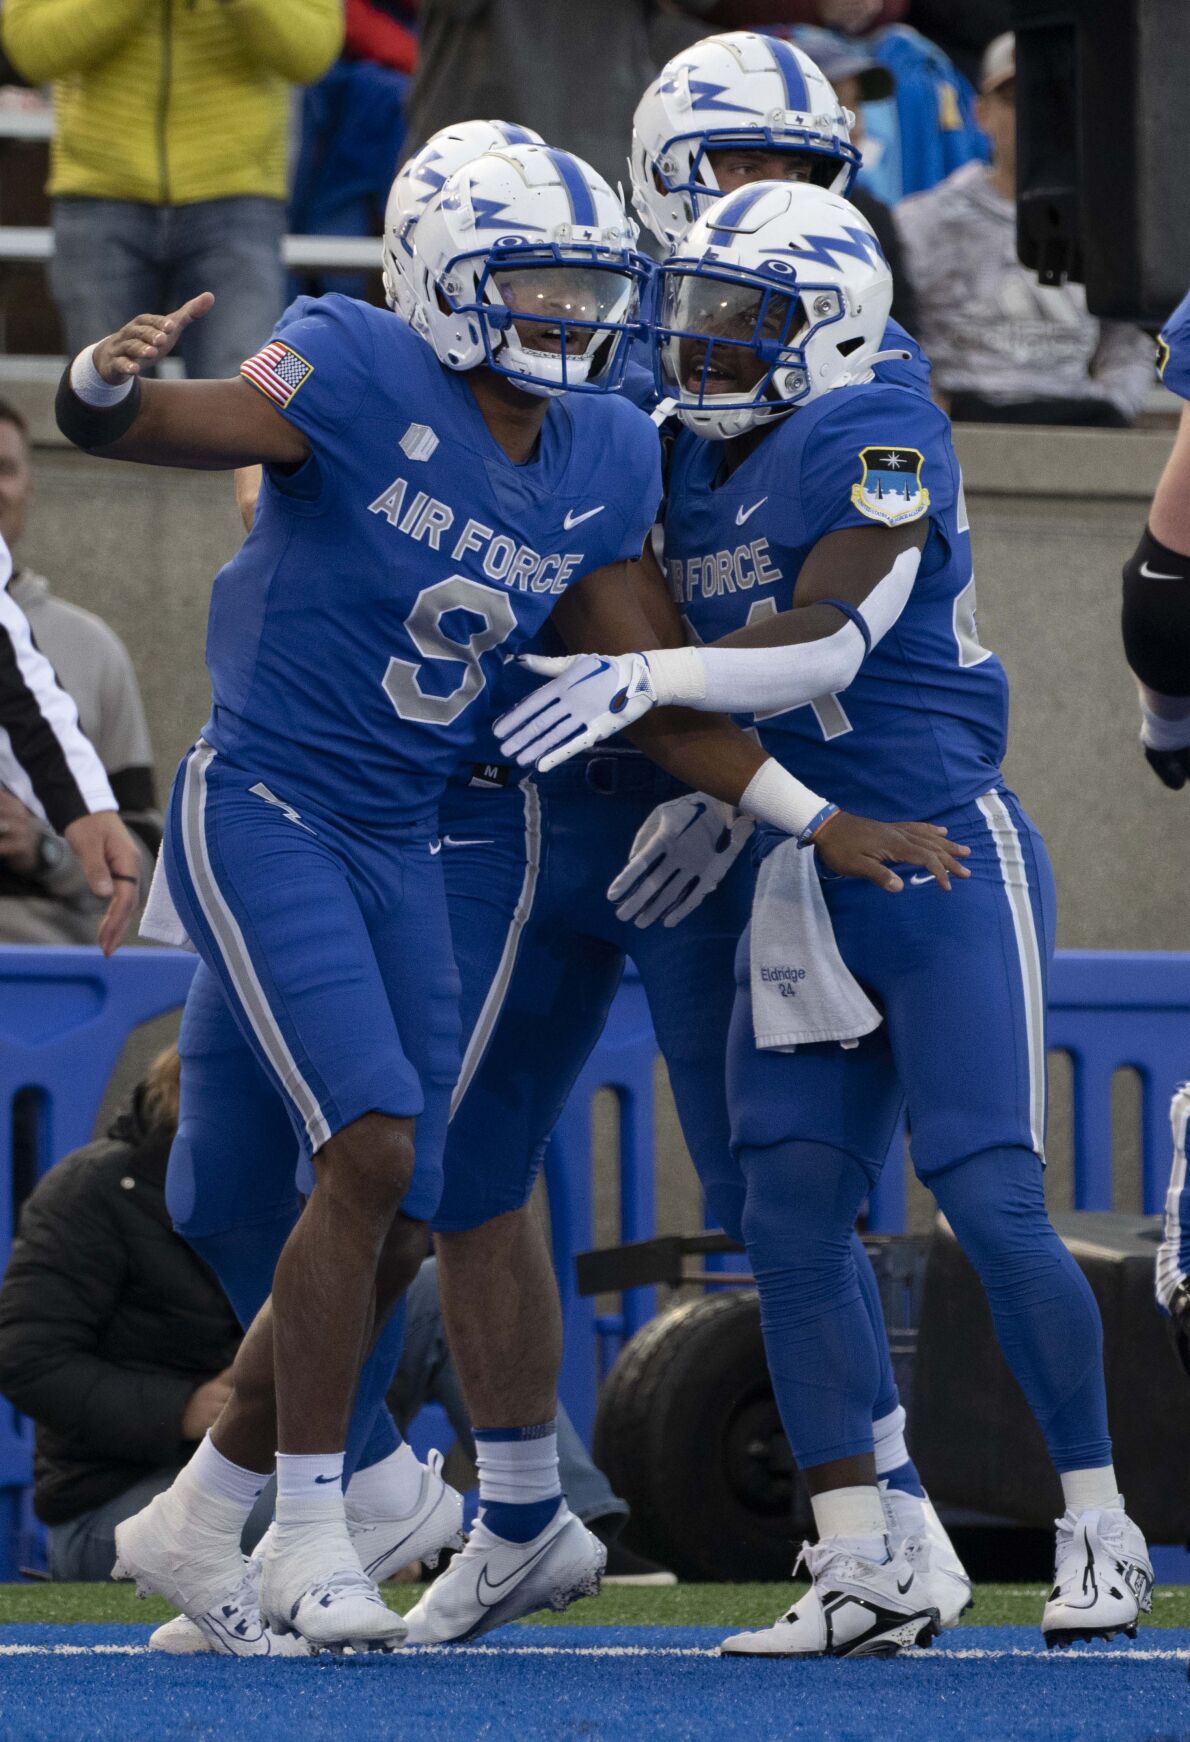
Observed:
[[[805,1470],[871,1451],[887,1350],[882,1357],[883,1320],[876,1334],[854,1235],[871,1179],[854,1155],[824,1143],[737,1153],[768,1371],[793,1455]],[[876,1298],[876,1315],[878,1306]],[[889,1408],[896,1388],[892,1399]]]

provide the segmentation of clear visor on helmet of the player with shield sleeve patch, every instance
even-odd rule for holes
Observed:
[[[664,272],[662,385],[683,399],[753,397],[807,327],[796,291],[707,273]]]

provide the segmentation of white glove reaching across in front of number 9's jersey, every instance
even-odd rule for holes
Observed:
[[[523,653],[519,664],[551,679],[495,723],[502,749],[523,768],[547,773],[631,726],[657,702],[645,653]]]

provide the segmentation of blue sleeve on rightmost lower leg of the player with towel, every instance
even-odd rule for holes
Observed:
[[[1110,1463],[1099,1308],[1049,1221],[1037,1155],[983,1150],[927,1185],[984,1286],[1000,1348],[1054,1469]]]

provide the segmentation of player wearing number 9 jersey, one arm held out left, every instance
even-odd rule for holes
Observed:
[[[577,646],[650,622],[631,559],[657,442],[603,392],[645,272],[622,207],[585,165],[530,145],[451,178],[430,213],[429,343],[331,296],[237,381],[141,388],[138,371],[209,307],[197,298],[91,347],[59,392],[89,451],[267,469],[253,533],[216,580],[214,706],[179,768],[166,868],[317,1181],[225,1415],[122,1526],[118,1568],[207,1617],[235,1587],[242,1516],[279,1444],[260,1608],[328,1646],[404,1634],[352,1547],[341,1469],[361,1361],[441,1186],[458,1033],[441,787],[483,728],[491,674],[552,611]],[[662,723],[678,773],[706,766],[749,808],[760,779],[761,815],[800,801],[786,777],[774,803],[772,758],[707,725]],[[857,848],[882,843],[855,820]],[[559,1592],[591,1582],[577,1521],[545,1549]]]

